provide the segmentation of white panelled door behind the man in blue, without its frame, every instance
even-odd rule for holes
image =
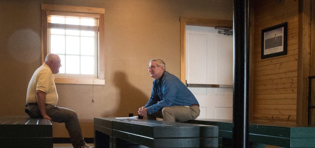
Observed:
[[[186,26],[188,84],[233,85],[233,36],[213,27]],[[232,119],[232,88],[189,87],[200,104],[198,118]]]

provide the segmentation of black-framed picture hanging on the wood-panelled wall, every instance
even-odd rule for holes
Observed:
[[[261,59],[287,54],[288,23],[261,30]]]

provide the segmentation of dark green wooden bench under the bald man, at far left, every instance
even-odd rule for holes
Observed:
[[[47,119],[0,117],[0,148],[52,148],[53,127]]]

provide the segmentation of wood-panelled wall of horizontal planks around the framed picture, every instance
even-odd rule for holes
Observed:
[[[252,118],[296,123],[298,74],[298,1],[254,1]],[[261,30],[288,23],[287,55],[261,59]]]

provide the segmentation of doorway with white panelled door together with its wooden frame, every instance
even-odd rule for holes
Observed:
[[[224,88],[189,87],[200,104],[200,116],[198,118],[232,119],[233,57],[231,53],[233,52],[233,37],[219,35],[218,30],[214,29],[214,27],[217,26],[232,27],[232,21],[182,17],[180,20],[180,78],[182,82],[192,84],[216,84],[217,86],[220,84],[224,86]],[[205,33],[205,30],[209,30],[209,32]],[[206,43],[206,38],[213,38],[214,42]],[[192,44],[196,44],[198,47],[192,47]],[[215,47],[216,44],[217,47]],[[219,44],[221,45],[219,46]],[[207,46],[214,48],[207,51]],[[220,52],[216,52],[216,50]],[[231,57],[226,58],[226,55]],[[198,73],[196,73],[196,71],[198,71]],[[226,79],[227,77],[228,79]]]

